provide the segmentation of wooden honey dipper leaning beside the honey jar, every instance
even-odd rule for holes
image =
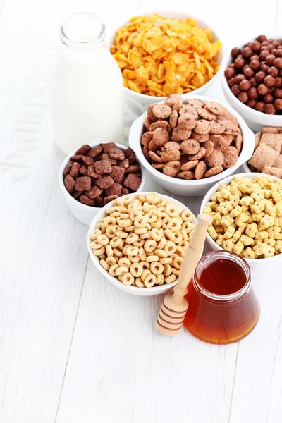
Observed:
[[[156,328],[164,335],[176,335],[180,331],[188,309],[188,301],[184,297],[187,294],[188,283],[199,262],[207,228],[212,223],[212,216],[201,213],[197,216],[197,221],[197,226],[192,233],[183,258],[178,283],[173,288],[173,293],[166,295],[159,311]]]

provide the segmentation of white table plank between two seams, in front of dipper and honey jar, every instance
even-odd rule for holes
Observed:
[[[87,267],[57,423],[228,422],[237,345],[203,345],[184,329],[161,336],[161,301]]]

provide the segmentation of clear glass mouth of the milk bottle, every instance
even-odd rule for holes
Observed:
[[[94,13],[73,13],[61,22],[60,37],[68,47],[95,49],[106,37],[104,20]]]

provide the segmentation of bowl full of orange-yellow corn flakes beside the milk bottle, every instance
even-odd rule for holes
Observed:
[[[183,98],[207,90],[223,61],[219,36],[202,20],[183,12],[133,16],[109,40],[123,75],[125,94],[141,102],[168,95]]]

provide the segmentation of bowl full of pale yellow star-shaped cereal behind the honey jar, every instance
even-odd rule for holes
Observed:
[[[210,214],[212,250],[244,257],[251,269],[282,259],[282,180],[264,173],[238,173],[216,183],[204,196]],[[279,262],[280,260],[280,262]]]

